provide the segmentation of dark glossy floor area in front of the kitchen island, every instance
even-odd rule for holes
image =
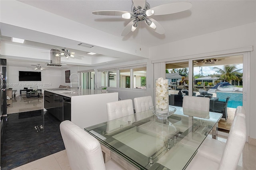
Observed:
[[[1,170],[11,170],[64,150],[60,121],[43,110],[8,115]]]

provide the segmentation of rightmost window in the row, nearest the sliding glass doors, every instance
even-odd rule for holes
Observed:
[[[133,69],[133,88],[146,89],[146,66]]]

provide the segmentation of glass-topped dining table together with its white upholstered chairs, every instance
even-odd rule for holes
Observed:
[[[184,96],[182,107],[168,105],[161,114],[151,96],[110,102],[106,109],[106,122],[84,129],[60,124],[72,169],[236,169],[246,141],[242,106],[227,142],[217,140],[222,114],[209,111],[207,97]]]

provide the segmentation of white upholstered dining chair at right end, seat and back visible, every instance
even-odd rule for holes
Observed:
[[[188,165],[188,170],[236,170],[246,142],[245,110],[236,109],[227,142],[207,137]]]

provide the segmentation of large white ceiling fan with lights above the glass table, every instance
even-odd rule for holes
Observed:
[[[126,36],[130,31],[134,32],[139,22],[144,21],[146,25],[153,29],[158,34],[164,34],[165,30],[163,26],[149,16],[174,14],[188,10],[192,7],[190,2],[175,2],[170,4],[163,4],[150,8],[150,5],[146,0],[132,0],[132,12],[127,11],[114,11],[103,10],[94,11],[95,15],[107,15],[107,16],[122,16],[124,19],[132,19],[124,28],[122,36]]]

